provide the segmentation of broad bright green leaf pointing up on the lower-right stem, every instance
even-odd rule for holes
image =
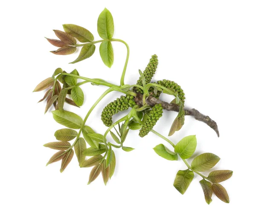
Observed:
[[[175,153],[179,154],[181,158],[187,159],[192,156],[196,148],[196,137],[187,136],[180,140],[175,146]]]

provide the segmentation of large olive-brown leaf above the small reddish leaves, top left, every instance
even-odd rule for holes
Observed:
[[[92,42],[94,40],[93,34],[91,34],[89,30],[84,29],[81,26],[77,26],[74,24],[64,24],[62,26],[66,33],[77,38],[77,40],[79,40],[80,42]]]

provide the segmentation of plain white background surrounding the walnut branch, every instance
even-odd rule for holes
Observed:
[[[168,3],[167,3],[168,2]],[[104,186],[102,177],[87,185],[90,168],[79,168],[76,156],[61,174],[60,162],[45,166],[55,150],[43,144],[55,141],[63,126],[44,115],[44,93],[35,86],[61,67],[82,76],[119,83],[126,50],[113,43],[115,60],[108,69],[100,59],[99,44],[93,57],[68,64],[79,54],[57,56],[44,37],[56,38],[52,29],[73,23],[90,30],[99,40],[97,19],[107,7],[114,18],[115,38],[131,49],[125,83],[134,84],[152,54],[159,66],[154,80],[177,82],[186,94],[187,108],[195,108],[218,123],[220,137],[204,123],[186,117],[183,128],[170,140],[177,143],[196,134],[196,154],[221,157],[214,169],[233,170],[223,186],[230,196],[225,204],[213,196],[207,205],[195,175],[184,195],[174,187],[182,161],[167,161],[153,151],[163,140],[138,131],[128,135],[116,151],[116,172]],[[1,5],[1,156],[0,216],[234,216],[252,215],[255,201],[255,70],[256,2],[215,1],[4,1]],[[103,86],[84,85],[81,109],[65,107],[84,118]],[[87,124],[98,133],[107,129],[100,120],[103,107],[119,97],[109,94]],[[165,99],[171,100],[171,97]],[[175,112],[164,112],[155,130],[167,136]],[[115,117],[116,118],[116,117]],[[109,138],[109,137],[108,137]],[[109,138],[110,139],[110,138]],[[194,155],[195,156],[195,155]],[[207,173],[206,173],[207,174]]]

